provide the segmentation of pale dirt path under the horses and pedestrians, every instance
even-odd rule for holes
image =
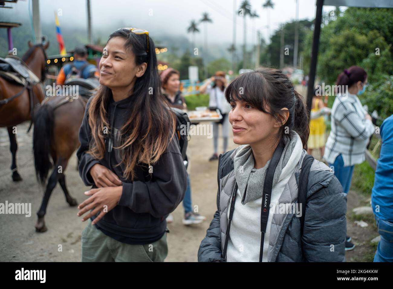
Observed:
[[[31,202],[32,211],[31,217],[0,215],[0,261],[80,261],[81,232],[86,224],[76,216],[77,209],[68,206],[59,185],[53,190],[48,205],[46,214],[48,231],[41,234],[35,232],[36,212],[40,206],[43,189],[35,179],[31,153],[32,131],[26,134],[27,129],[28,123],[18,125],[17,160],[23,180],[17,183],[11,180],[11,173],[9,173],[11,154],[7,131],[4,128],[0,129],[0,202]],[[231,139],[230,134],[228,150],[237,147]],[[219,139],[219,148],[222,149],[222,139]],[[206,229],[216,211],[218,162],[208,162],[212,153],[212,139],[206,136],[191,136],[189,155],[192,204],[197,205],[199,214],[205,215],[208,220],[200,225],[182,225],[184,210],[180,204],[173,212],[174,222],[168,224],[169,254],[165,261],[197,261],[200,241],[206,235]],[[88,187],[84,186],[76,170],[75,154],[66,170],[66,183],[71,195],[78,202],[86,198],[83,192]],[[361,196],[358,196],[356,192],[351,191],[348,198],[349,209],[364,203]],[[369,254],[370,249],[369,246],[367,247],[366,240],[371,238],[373,232],[368,231],[371,227],[354,227],[353,221],[348,221],[348,228],[358,246],[354,251],[347,253],[347,261],[355,261],[359,254],[364,255],[365,252]],[[59,245],[62,247],[61,252],[59,252]],[[365,251],[362,248],[366,248]]]

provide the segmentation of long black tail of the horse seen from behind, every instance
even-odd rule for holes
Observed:
[[[48,172],[52,168],[50,160],[51,140],[53,137],[53,109],[44,104],[34,116],[33,155],[37,180],[44,186]]]

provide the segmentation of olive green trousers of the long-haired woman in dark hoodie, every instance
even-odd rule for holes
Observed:
[[[82,232],[82,262],[163,262],[168,255],[167,233],[145,245],[119,242],[92,225]]]

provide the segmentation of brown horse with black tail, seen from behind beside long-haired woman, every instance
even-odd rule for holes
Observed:
[[[97,81],[98,85],[98,81]],[[68,160],[79,147],[79,127],[81,126],[88,98],[79,94],[78,98],[54,96],[41,104],[34,117],[33,154],[37,179],[44,186],[48,173],[53,168],[46,185],[46,190],[35,224],[36,232],[45,232],[44,216],[50,195],[59,182],[66,202],[76,206],[66,187]],[[52,163],[53,162],[53,163]]]

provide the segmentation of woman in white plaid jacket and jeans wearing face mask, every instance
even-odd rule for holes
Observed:
[[[367,73],[358,66],[344,69],[336,80],[341,89],[331,110],[331,131],[325,145],[323,158],[333,168],[334,175],[349,193],[355,164],[365,160],[365,150],[375,126],[371,116],[364,110],[357,95],[367,87]],[[353,250],[355,245],[347,236],[345,250]]]

